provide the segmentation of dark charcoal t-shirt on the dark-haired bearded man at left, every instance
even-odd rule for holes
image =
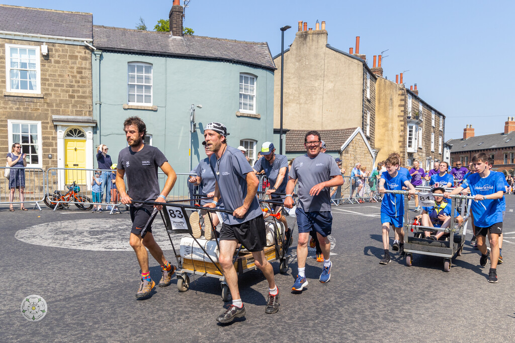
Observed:
[[[138,152],[133,152],[131,147],[120,151],[116,168],[125,170],[129,196],[133,200],[156,201],[160,193],[158,168],[167,161],[158,148],[146,144]],[[132,206],[143,204],[133,203]]]

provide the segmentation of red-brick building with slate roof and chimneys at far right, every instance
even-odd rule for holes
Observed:
[[[491,135],[475,136],[472,125],[463,130],[463,138],[450,139],[451,165],[460,161],[464,167],[469,166],[472,156],[479,152],[493,158],[493,169],[505,175],[515,174],[515,120],[508,117],[504,123],[504,132]]]

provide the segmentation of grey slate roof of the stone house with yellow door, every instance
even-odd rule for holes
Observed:
[[[93,38],[93,14],[0,5],[0,31]]]

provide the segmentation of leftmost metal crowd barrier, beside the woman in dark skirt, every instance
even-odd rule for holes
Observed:
[[[7,170],[10,170],[9,178],[5,177]],[[23,173],[25,176],[25,187],[23,191],[23,202],[20,199],[20,189],[14,189],[13,201],[9,201],[11,189],[9,188],[9,180],[16,177],[17,174]],[[42,168],[24,168],[24,167],[0,167],[0,204],[22,204],[34,203],[34,207],[41,211],[40,202],[45,197],[45,172]],[[18,198],[19,201],[14,201]]]

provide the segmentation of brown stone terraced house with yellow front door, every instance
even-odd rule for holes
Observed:
[[[0,17],[0,150],[21,143],[32,168],[93,168],[92,14],[0,5]]]

